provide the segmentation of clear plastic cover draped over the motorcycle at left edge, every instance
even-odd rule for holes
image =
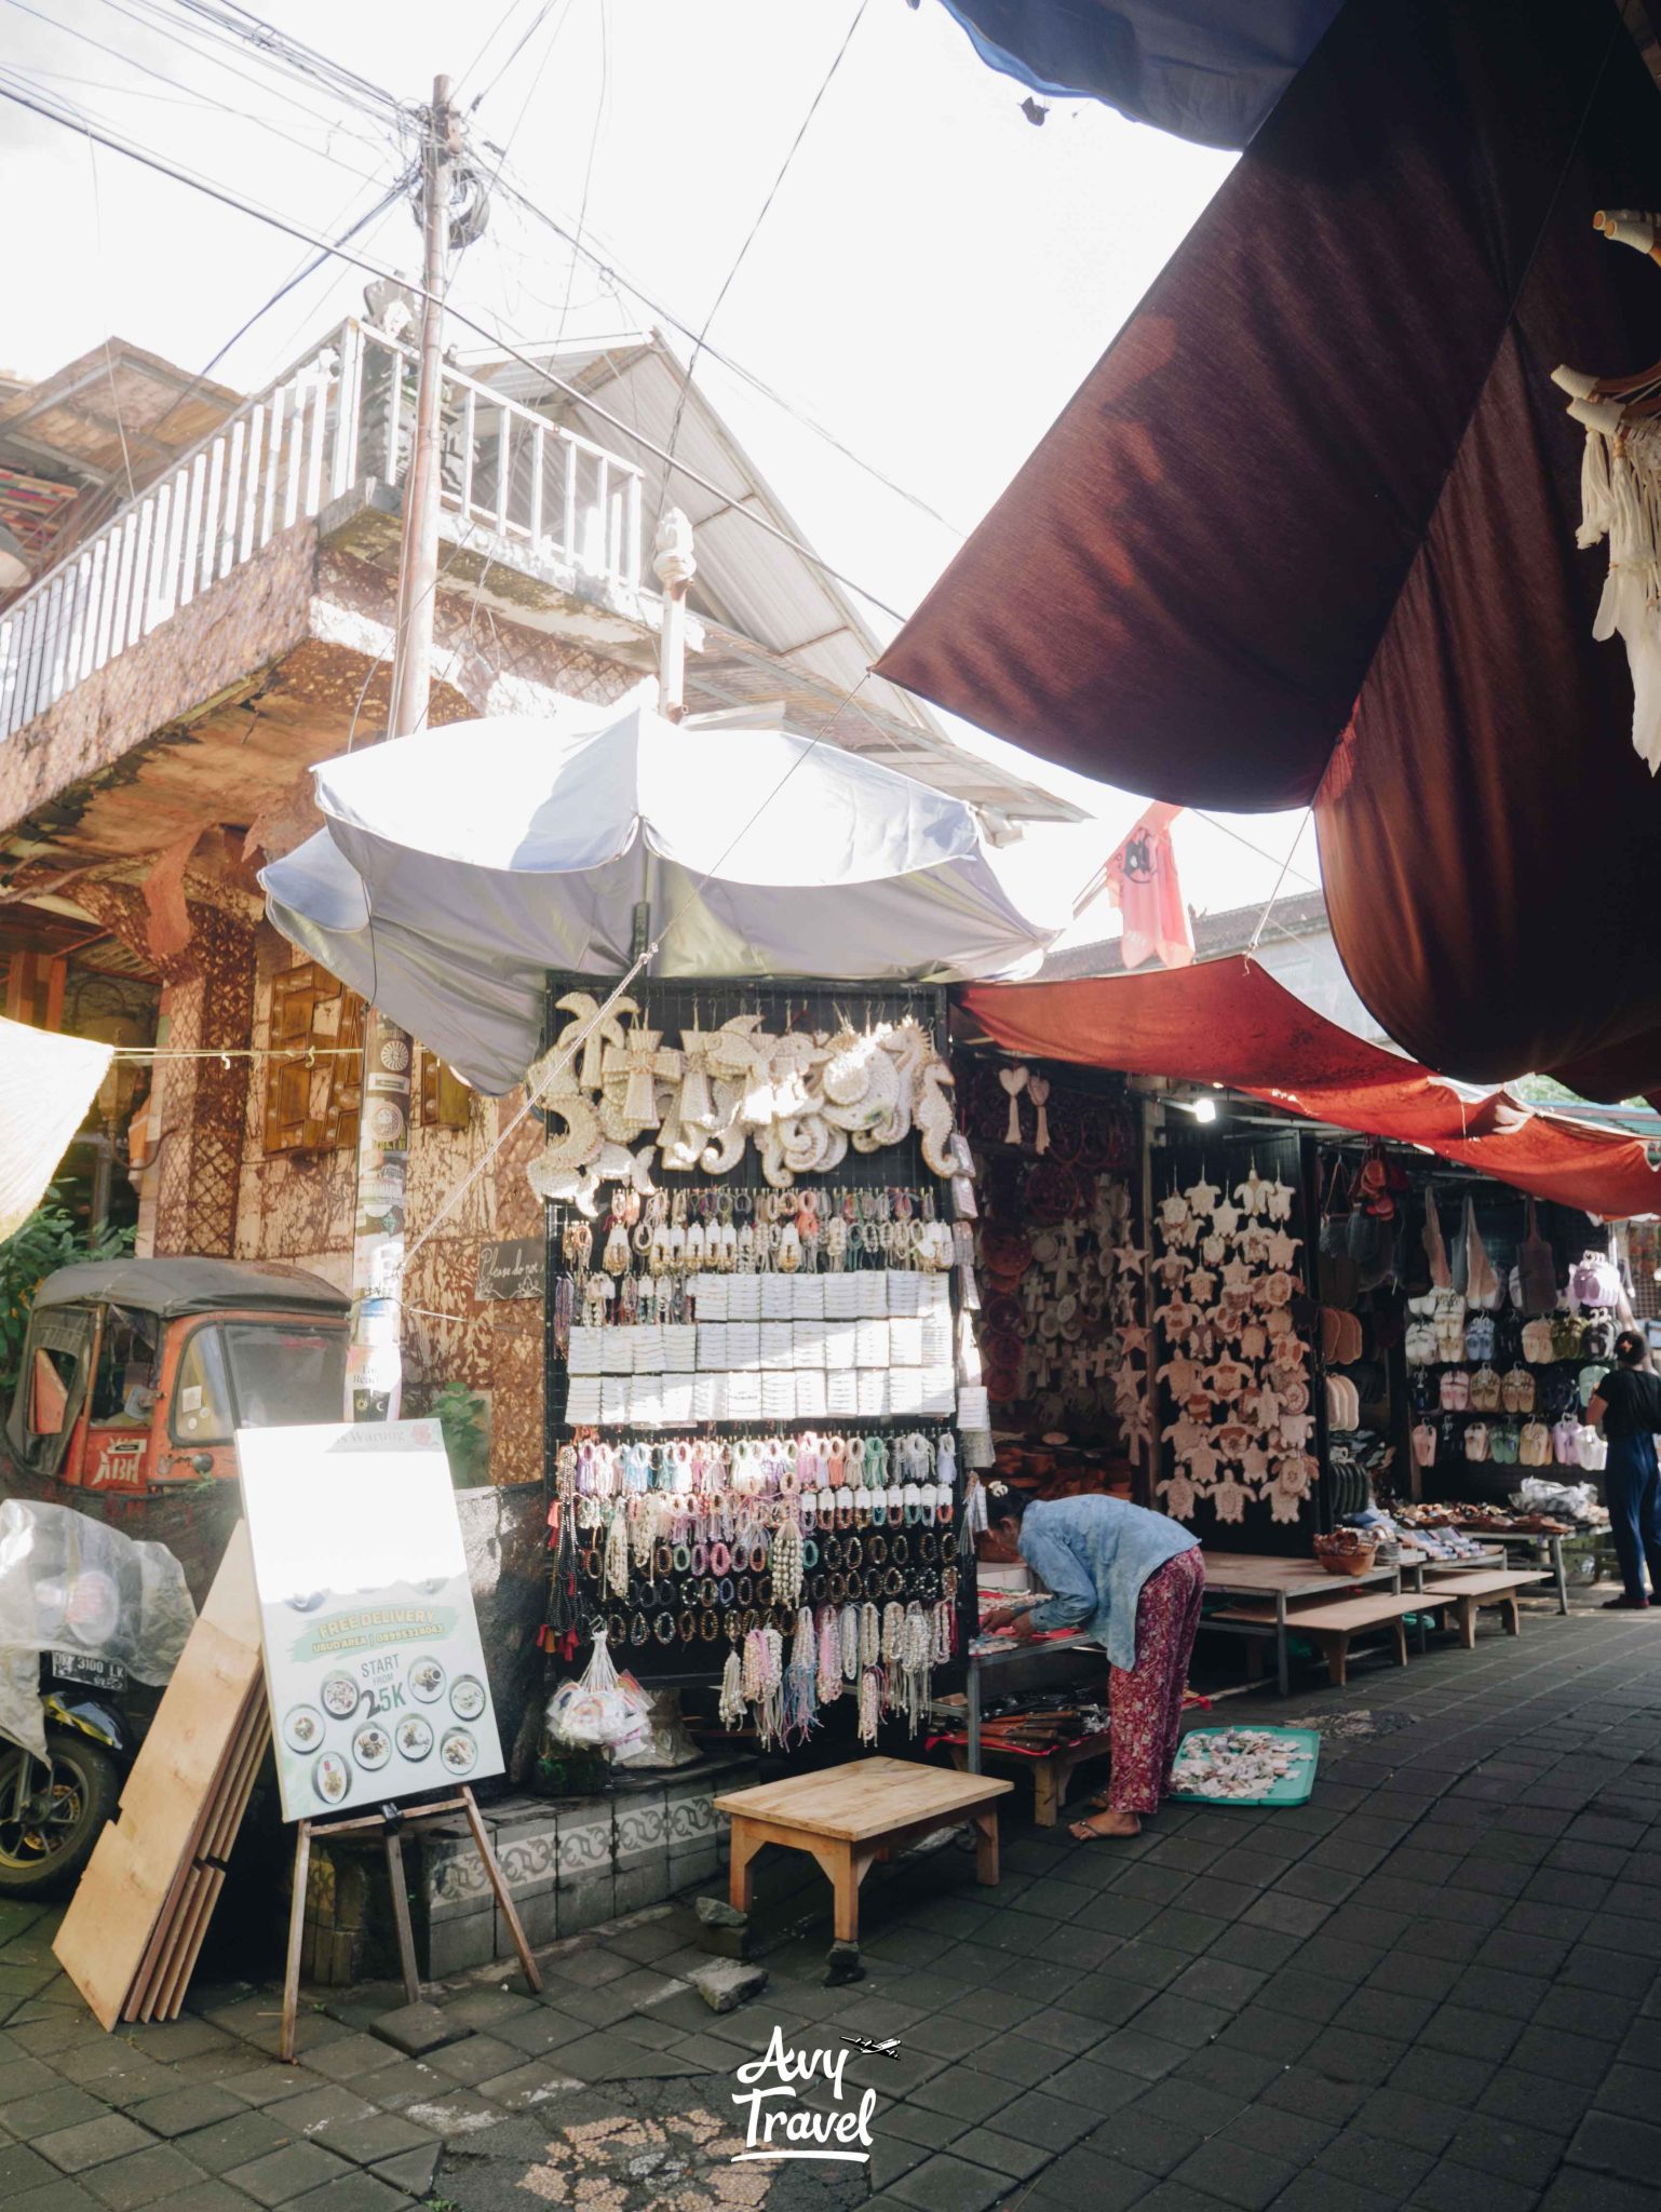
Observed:
[[[164,1683],[197,1624],[166,1544],[137,1544],[73,1506],[0,1504],[0,1736],[46,1756],[40,1655],[73,1650]]]

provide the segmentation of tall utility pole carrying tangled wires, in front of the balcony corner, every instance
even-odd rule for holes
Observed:
[[[398,611],[391,648],[387,737],[427,723],[438,597],[438,420],[442,396],[445,294],[453,159],[460,117],[449,77],[433,77],[420,166],[422,312],[416,440],[405,473]],[[376,1006],[363,1011],[363,1097],[358,1106],[358,1186],[352,1225],[352,1347],[345,1374],[347,1420],[396,1420],[403,1400],[403,1261],[409,1177],[414,1046]]]

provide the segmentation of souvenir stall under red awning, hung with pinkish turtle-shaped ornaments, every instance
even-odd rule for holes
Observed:
[[[1267,1635],[1283,1686],[1292,1599],[1265,1599],[1234,1559],[1303,1573],[1305,1624],[1307,1606],[1343,1599],[1356,1632],[1393,1637],[1411,1619],[1420,1644],[1424,1617],[1464,1632],[1477,1597],[1515,1608],[1535,1566],[1566,1606],[1577,1533],[1601,1517],[1584,1409],[1630,1298],[1608,1225],[1581,1208],[1654,1206],[1643,1148],[1444,1084],[1336,1031],[1252,962],[964,998],[1004,1048],[960,1071],[960,1091],[982,1155],[975,1321],[1009,1480],[1037,1495],[1135,1480],[1201,1535],[1208,1621]],[[1119,1086],[1141,1150],[1115,1265],[1141,1267],[1146,1307],[1101,1329],[1099,1380],[1082,1365],[1073,1396],[1024,1405],[1011,1385],[1044,1385],[1048,1356],[1022,1327],[1057,1310],[1057,1259],[1064,1272],[1082,1259],[1082,1287],[1110,1296],[1082,1228],[1057,1237],[1066,1172],[1037,1155],[1040,1106],[1053,1121],[1057,1088],[1090,1075]],[[1104,1199],[1104,1223],[1112,1210]],[[1648,1250],[1641,1234],[1628,1245]],[[1141,1467],[1130,1427],[1088,1429],[1097,1389],[1128,1413],[1139,1385]],[[1360,1524],[1349,1584],[1312,1557],[1347,1524]],[[1469,1601],[1411,1604],[1455,1575]]]

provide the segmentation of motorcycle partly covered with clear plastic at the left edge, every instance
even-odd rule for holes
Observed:
[[[0,1504],[0,1896],[75,1885],[192,1619],[164,1546]]]

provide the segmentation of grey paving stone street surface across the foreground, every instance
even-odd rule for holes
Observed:
[[[1528,1613],[1314,1719],[1307,1807],[1172,1807],[1132,1845],[1017,1829],[997,1889],[947,1847],[869,1900],[869,1978],[827,1931],[714,2015],[686,1909],[500,1971],[301,2020],[199,1989],[104,2035],[53,1916],[0,1907],[0,2205],[241,2212],[1654,2212],[1661,2203],[1661,1615]],[[854,2053],[869,2168],[734,2163],[737,2068],[774,2028]],[[376,2033],[380,2031],[380,2033]],[[803,2090],[834,2108],[823,2084]]]

